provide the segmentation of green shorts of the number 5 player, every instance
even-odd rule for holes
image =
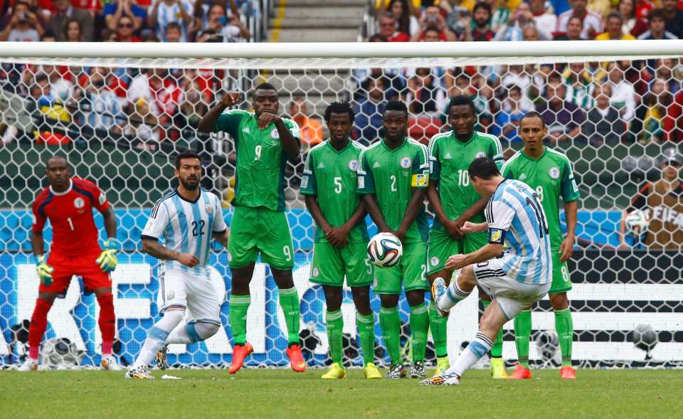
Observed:
[[[372,283],[373,267],[368,259],[367,243],[349,243],[335,248],[329,243],[313,245],[311,282],[320,285],[361,287]]]

